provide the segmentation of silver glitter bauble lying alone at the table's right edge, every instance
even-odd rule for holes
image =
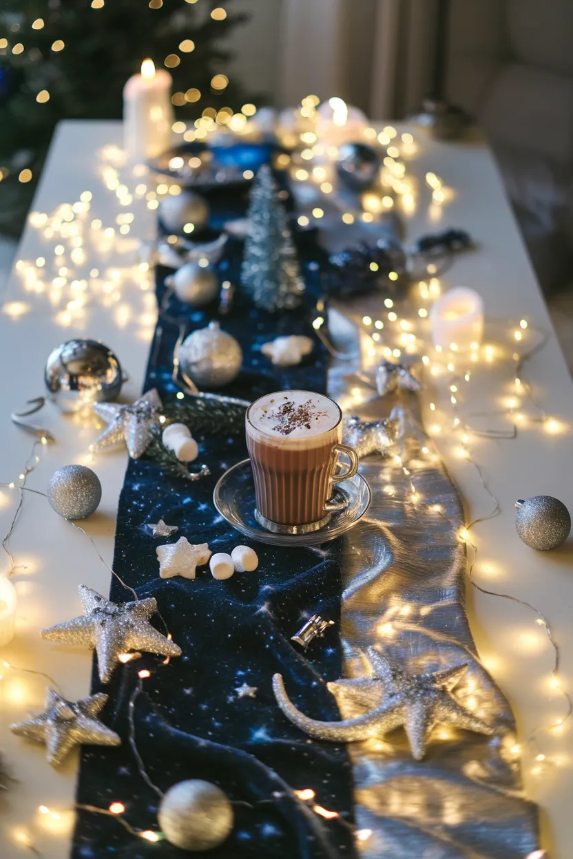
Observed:
[[[535,495],[515,502],[515,530],[523,542],[538,551],[557,549],[569,537],[571,517],[558,498]]]

